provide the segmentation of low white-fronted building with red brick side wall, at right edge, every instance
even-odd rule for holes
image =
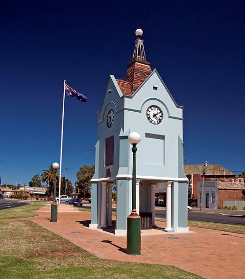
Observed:
[[[201,203],[202,181],[198,181],[198,203]],[[218,207],[245,207],[245,184],[243,178],[218,178],[204,181],[203,207],[218,209]]]

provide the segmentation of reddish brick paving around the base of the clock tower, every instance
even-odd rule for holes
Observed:
[[[37,212],[37,211],[36,211]],[[191,227],[193,233],[161,232],[142,236],[142,255],[126,252],[126,237],[88,228],[90,212],[59,213],[58,222],[49,222],[50,213],[37,212],[31,220],[103,259],[174,265],[210,279],[245,278],[245,235]],[[115,220],[115,216],[113,216]],[[170,238],[171,237],[171,238]]]

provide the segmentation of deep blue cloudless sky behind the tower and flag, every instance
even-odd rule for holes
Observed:
[[[75,181],[94,163],[97,112],[109,74],[124,78],[142,28],[147,60],[184,106],[184,155],[245,169],[245,1],[5,1],[0,11],[0,176],[28,183],[59,162]],[[188,163],[185,161],[185,163]]]

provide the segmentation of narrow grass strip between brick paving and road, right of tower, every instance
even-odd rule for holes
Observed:
[[[156,220],[160,222],[166,222],[166,219],[156,218]],[[209,229],[209,230],[218,230],[223,232],[235,232],[235,233],[245,234],[245,226],[242,225],[230,225],[230,224],[222,224],[222,223],[188,220],[188,226]]]

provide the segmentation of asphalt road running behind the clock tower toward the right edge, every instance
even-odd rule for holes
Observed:
[[[84,203],[83,206],[86,208],[91,208],[90,204]],[[116,209],[112,209],[112,211],[116,211]],[[240,215],[240,216],[233,216]],[[166,210],[165,209],[156,209],[155,210],[156,218],[165,219],[166,218]],[[198,211],[190,211],[188,212],[188,220],[193,221],[206,221],[206,222],[215,222],[222,224],[232,224],[232,225],[245,225],[245,213],[241,215],[241,213],[236,214],[236,211],[232,213],[232,215],[222,215],[220,213],[204,213]]]

